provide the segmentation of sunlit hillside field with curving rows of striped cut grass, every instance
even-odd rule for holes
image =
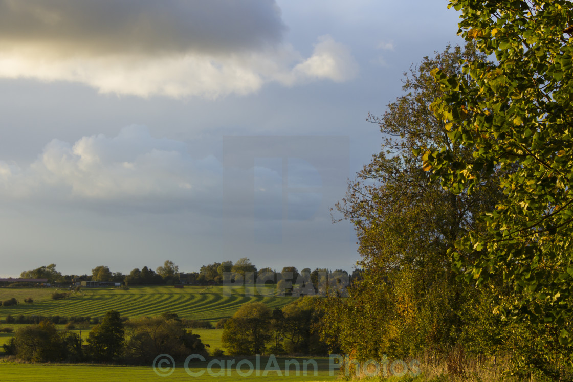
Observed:
[[[15,297],[20,304],[0,307],[0,318],[11,316],[90,316],[103,317],[109,310],[118,310],[121,316],[135,318],[159,316],[164,312],[180,317],[207,320],[215,324],[223,317],[231,317],[242,304],[261,301],[270,309],[280,308],[296,297],[246,296],[244,289],[223,296],[222,286],[134,286],[128,290],[112,288],[84,288],[62,300],[51,300],[54,288],[0,288],[0,301]],[[62,291],[59,291],[62,292]],[[32,304],[23,303],[32,297]],[[0,324],[2,325],[2,324]]]

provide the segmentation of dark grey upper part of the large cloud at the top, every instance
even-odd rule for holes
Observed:
[[[273,0],[0,0],[0,46],[60,54],[237,52],[281,41]]]

